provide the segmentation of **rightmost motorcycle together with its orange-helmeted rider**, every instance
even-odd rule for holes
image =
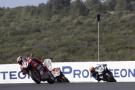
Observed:
[[[107,68],[107,64],[100,64],[96,67],[90,68],[91,76],[94,77],[98,82],[116,82],[112,72]]]

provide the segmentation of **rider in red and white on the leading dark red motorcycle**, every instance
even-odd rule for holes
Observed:
[[[29,62],[32,62],[33,65],[37,65],[35,67],[37,68],[38,71],[40,71],[40,75],[43,75],[43,69],[42,69],[43,64],[41,60],[37,58],[33,58],[32,56],[29,56],[27,58],[24,56],[19,56],[17,57],[16,61],[20,65],[20,69],[23,74],[27,74],[27,68],[31,67],[28,64]]]

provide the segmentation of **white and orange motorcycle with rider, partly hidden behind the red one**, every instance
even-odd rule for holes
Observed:
[[[48,68],[55,78],[55,82],[69,82],[67,77],[62,73],[60,68],[52,68],[51,59],[44,59],[43,65]]]

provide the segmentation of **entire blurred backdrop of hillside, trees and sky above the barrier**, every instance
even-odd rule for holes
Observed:
[[[135,60],[134,0],[0,0],[0,64]]]

